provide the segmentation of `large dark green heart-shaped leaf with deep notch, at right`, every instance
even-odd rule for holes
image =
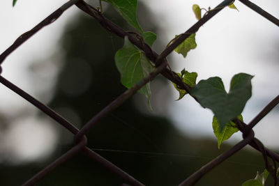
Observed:
[[[230,120],[239,116],[252,95],[253,76],[239,73],[231,81],[229,93],[225,91],[220,77],[201,80],[191,91],[202,107],[213,111],[222,131]]]

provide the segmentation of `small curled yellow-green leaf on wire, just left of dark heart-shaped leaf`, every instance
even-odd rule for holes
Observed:
[[[177,75],[179,75],[179,77],[181,77],[180,73],[177,73]],[[187,70],[184,70],[184,75],[182,78],[182,81],[184,83],[193,87],[196,84],[196,79],[197,79],[197,72],[188,72]],[[172,84],[174,84],[174,83],[172,83]],[[179,98],[177,100],[181,100],[181,98],[183,98],[183,96],[187,94],[187,91],[178,88],[176,86],[176,84],[174,84],[174,88],[176,88],[176,90],[179,91]]]

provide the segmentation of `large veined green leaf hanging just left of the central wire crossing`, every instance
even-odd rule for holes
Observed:
[[[154,33],[146,32],[143,35],[144,41],[149,42],[150,45],[156,40]],[[153,70],[151,62],[140,49],[128,40],[128,37],[125,37],[124,46],[116,52],[115,63],[121,74],[121,83],[126,88],[131,88]],[[150,84],[144,85],[139,92],[146,96],[150,105]]]

